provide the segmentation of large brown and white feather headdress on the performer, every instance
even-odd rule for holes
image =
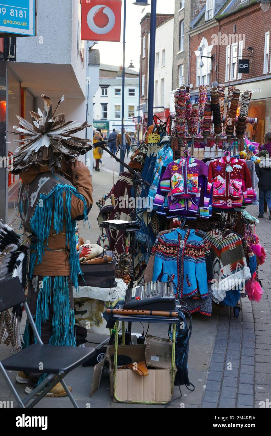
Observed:
[[[88,146],[90,141],[85,138],[74,136],[75,133],[89,127],[85,121],[83,124],[74,121],[65,121],[64,113],[55,112],[64,100],[59,100],[55,110],[52,109],[51,99],[44,94],[41,97],[45,103],[45,112],[38,109],[38,113],[30,111],[34,118],[33,125],[26,119],[17,115],[20,126],[13,126],[15,135],[24,136],[24,139],[15,140],[21,145],[14,153],[12,172],[18,174],[29,167],[37,168],[38,165],[48,165],[49,170],[61,168],[62,158],[75,161],[79,154]]]

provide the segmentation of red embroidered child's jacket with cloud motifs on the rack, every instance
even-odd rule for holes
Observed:
[[[250,203],[253,199],[250,172],[244,160],[235,157],[222,157],[209,164],[208,187],[213,185],[213,206],[239,206],[243,200]]]

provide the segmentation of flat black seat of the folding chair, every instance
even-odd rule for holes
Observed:
[[[62,347],[56,345],[33,344],[24,350],[1,361],[3,367],[10,371],[48,372],[58,374],[69,372],[94,356],[90,347]],[[41,363],[43,370],[39,369]]]

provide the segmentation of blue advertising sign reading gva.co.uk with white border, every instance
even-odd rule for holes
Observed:
[[[34,36],[35,0],[0,0],[0,32]]]

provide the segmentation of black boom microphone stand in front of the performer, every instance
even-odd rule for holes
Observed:
[[[116,139],[116,141],[120,144],[120,141],[118,141]],[[137,204],[137,191],[138,191],[138,187],[141,185],[145,185],[145,186],[151,186],[147,181],[145,181],[142,177],[141,174],[135,170],[133,170],[133,168],[130,168],[125,162],[123,162],[122,160],[120,160],[114,153],[111,153],[110,150],[107,150],[106,148],[106,142],[103,142],[102,144],[96,143],[95,146],[92,146],[92,148],[96,148],[96,147],[101,147],[103,150],[106,151],[106,153],[110,154],[110,156],[112,156],[119,164],[122,164],[124,168],[126,168],[128,171],[130,171],[131,174],[133,174],[133,188],[134,188],[134,198],[135,198],[135,207],[133,210],[133,216],[132,221],[136,221],[136,204]],[[119,147],[120,150],[120,147]],[[119,151],[117,150],[117,152]],[[136,234],[135,234],[135,230],[130,230],[131,233],[131,237],[130,237],[130,245],[131,245],[131,256],[132,256],[132,265],[133,265],[133,275],[130,277],[131,278],[131,283],[133,284],[134,282],[134,259],[135,259],[135,252],[136,252]],[[125,236],[127,236],[129,234],[129,229],[126,229],[125,232]],[[130,330],[129,330],[130,331]]]

